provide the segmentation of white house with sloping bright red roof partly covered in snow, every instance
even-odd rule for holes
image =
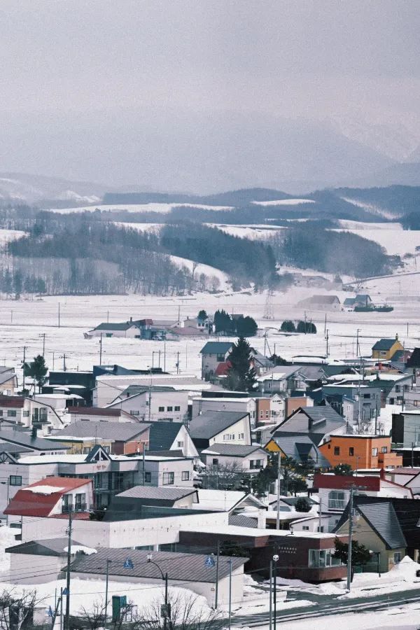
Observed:
[[[4,514],[20,517],[58,517],[82,514],[93,505],[91,479],[46,477],[18,490]]]

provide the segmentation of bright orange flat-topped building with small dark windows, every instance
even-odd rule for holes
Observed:
[[[346,463],[360,470],[402,465],[402,456],[391,453],[389,435],[330,435],[318,448],[331,466]]]

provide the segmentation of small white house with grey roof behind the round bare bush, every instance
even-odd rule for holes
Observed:
[[[268,454],[258,445],[211,444],[201,452],[202,461],[207,468],[230,466],[240,469],[244,474],[255,475],[267,465]]]

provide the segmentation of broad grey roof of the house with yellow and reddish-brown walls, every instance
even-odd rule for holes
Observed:
[[[128,442],[134,437],[144,433],[150,425],[143,422],[73,422],[66,428],[55,431],[53,435],[61,440],[70,440],[72,437],[92,437],[116,442]]]

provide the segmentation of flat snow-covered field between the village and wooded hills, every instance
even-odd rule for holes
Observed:
[[[360,289],[362,290],[362,289]],[[394,295],[395,309],[391,313],[368,314],[337,311],[327,313],[330,356],[351,358],[355,353],[356,330],[360,329],[360,346],[364,354],[370,355],[372,344],[379,337],[393,337],[395,333],[404,340],[407,347],[420,345],[420,274],[394,276],[365,283],[366,290],[373,300],[384,302]],[[314,321],[318,328],[316,335],[285,336],[278,332],[285,318],[302,319],[304,309],[295,304],[308,295],[327,293],[319,288],[294,287],[286,293],[272,296],[274,319],[263,318],[266,293],[241,291],[240,293],[195,293],[188,297],[150,297],[139,295],[103,295],[45,297],[43,300],[0,300],[0,363],[20,367],[23,346],[27,346],[27,358],[42,351],[41,334],[45,332],[45,360],[50,368],[61,369],[63,356],[69,370],[91,369],[99,363],[99,339],[84,339],[83,332],[94,328],[102,321],[117,322],[133,318],[178,318],[195,316],[200,309],[214,312],[227,309],[229,312],[251,315],[263,330],[260,337],[251,339],[256,349],[267,353],[274,352],[289,358],[297,354],[325,353],[325,312],[307,309],[307,319]],[[349,293],[332,291],[343,302]],[[407,295],[412,301],[406,302]],[[60,328],[58,328],[58,304],[60,307]],[[408,323],[408,335],[407,335]],[[200,349],[203,339],[183,339],[167,342],[166,368],[176,369],[177,353],[181,372],[200,374]],[[158,365],[160,351],[163,366],[164,344],[158,341],[139,339],[104,339],[103,363],[120,363],[127,367]]]

